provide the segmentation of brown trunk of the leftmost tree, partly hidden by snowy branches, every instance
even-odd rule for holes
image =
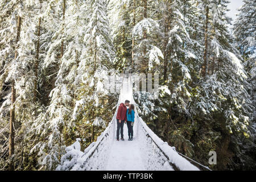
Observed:
[[[20,38],[20,27],[21,27],[21,17],[18,16],[18,28],[16,35],[16,44],[19,42]],[[17,49],[18,47],[16,47]],[[15,51],[16,59],[18,57],[18,51]],[[11,110],[10,110],[10,134],[9,134],[9,158],[14,154],[14,122],[15,122],[15,100],[16,100],[16,89],[14,80],[11,83]],[[11,159],[9,170],[14,170],[14,160]]]

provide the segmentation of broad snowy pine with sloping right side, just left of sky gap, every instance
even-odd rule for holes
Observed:
[[[252,107],[250,96],[246,91],[247,74],[241,60],[238,59],[241,56],[232,46],[233,38],[227,27],[230,22],[230,18],[226,16],[227,3],[228,1],[212,1],[209,6],[208,36],[210,39],[207,39],[209,44],[207,57],[208,61],[212,61],[212,65],[217,63],[218,66],[217,68],[212,66],[210,72],[210,64],[207,64],[205,73],[209,76],[199,81],[200,86],[196,89],[195,97],[196,108],[193,110],[201,108],[200,117],[205,115],[205,121],[209,118],[212,120],[210,125],[204,123],[207,127],[202,129],[203,133],[206,128],[213,131],[216,130],[214,128],[221,129],[220,141],[228,146],[237,146],[233,151],[240,153],[243,146],[238,144],[238,140],[250,138]],[[218,135],[217,132],[214,132],[210,136],[213,143],[216,135]],[[230,138],[236,138],[236,142]],[[216,150],[222,154],[222,158],[237,159],[237,156],[233,156],[233,151],[221,147],[223,146],[216,146]],[[245,154],[241,155],[245,156]],[[223,160],[218,164],[218,168],[224,169],[227,163]]]

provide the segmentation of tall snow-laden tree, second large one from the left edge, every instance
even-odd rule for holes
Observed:
[[[42,150],[47,152],[43,161],[43,164],[46,164],[46,169],[53,169],[59,162],[67,137],[75,126],[72,121],[72,113],[76,102],[76,86],[81,81],[76,80],[77,67],[82,59],[82,51],[85,49],[83,40],[85,24],[88,23],[86,2],[66,3],[63,1],[61,3],[57,2],[55,6],[63,7],[62,16],[65,15],[65,19],[63,18],[62,26],[57,26],[59,30],[52,37],[52,43],[49,45],[43,63],[43,68],[46,70],[57,68],[56,77],[53,79],[55,80],[54,88],[49,93],[51,102],[46,113],[40,113],[39,117],[32,123],[35,133],[39,134],[40,138],[35,140],[31,152]],[[49,3],[48,9],[52,6]],[[46,20],[54,16],[49,13],[51,13],[50,10],[46,12],[44,17]],[[57,47],[59,47],[60,52],[57,51]],[[60,59],[56,59],[56,55],[60,55]],[[44,138],[48,138],[48,141]]]

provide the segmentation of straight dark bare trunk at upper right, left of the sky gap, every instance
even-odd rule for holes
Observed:
[[[208,23],[209,23],[209,6],[206,9],[205,19],[205,35],[204,35],[204,64],[202,66],[202,75],[205,76],[207,72],[207,52],[208,52]]]

